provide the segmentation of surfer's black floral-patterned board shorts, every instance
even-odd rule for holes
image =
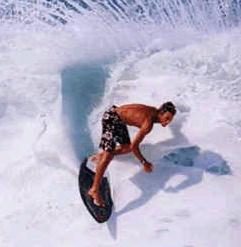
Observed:
[[[130,144],[130,136],[126,124],[121,120],[113,105],[104,112],[102,117],[102,136],[99,147],[104,151],[112,152],[116,144]]]

